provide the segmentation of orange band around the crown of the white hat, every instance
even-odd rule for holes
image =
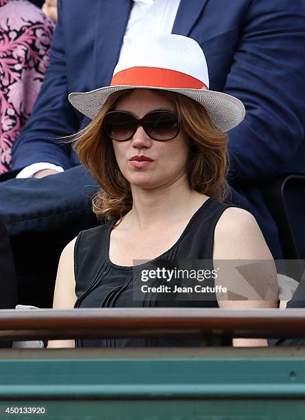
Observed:
[[[155,86],[173,89],[208,89],[201,80],[180,73],[180,71],[160,69],[159,67],[131,67],[119,71],[111,80],[110,86]]]

